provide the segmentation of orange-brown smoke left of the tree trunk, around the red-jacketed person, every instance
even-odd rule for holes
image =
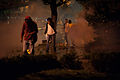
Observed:
[[[49,6],[44,5],[42,2],[33,2],[28,6],[12,9],[8,19],[0,21],[0,58],[8,55],[18,55],[21,52],[14,52],[22,49],[20,42],[20,33],[24,22],[24,17],[29,15],[34,21],[37,22],[38,27],[43,28],[44,21],[50,16]],[[6,16],[3,16],[6,17]],[[38,33],[38,42],[44,39],[43,31]]]

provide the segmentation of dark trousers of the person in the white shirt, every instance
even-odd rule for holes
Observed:
[[[47,36],[46,52],[49,52],[49,43],[50,43],[50,41],[52,41],[54,52],[56,52],[55,35],[48,35]]]

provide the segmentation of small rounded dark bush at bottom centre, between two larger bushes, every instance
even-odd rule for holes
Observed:
[[[81,69],[82,63],[79,60],[79,56],[77,56],[75,53],[69,53],[63,55],[63,57],[60,59],[61,66],[63,68],[68,69]]]

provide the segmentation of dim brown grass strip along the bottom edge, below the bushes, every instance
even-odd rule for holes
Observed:
[[[41,71],[19,78],[18,80],[106,80],[107,77],[102,73],[90,73],[84,70],[53,69]]]

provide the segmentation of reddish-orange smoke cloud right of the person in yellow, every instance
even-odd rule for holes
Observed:
[[[76,23],[73,24],[69,32],[69,39],[79,55],[85,53],[84,46],[90,42],[94,42],[94,38],[96,37],[94,33],[95,30],[85,19],[86,14],[88,14],[88,12],[86,12],[85,9],[83,9],[79,14],[76,14],[78,15]]]

